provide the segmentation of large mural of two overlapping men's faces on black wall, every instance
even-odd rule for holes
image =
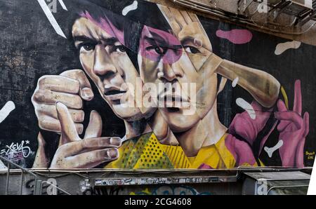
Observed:
[[[312,166],[316,47],[147,1],[0,8],[1,156],[56,169]]]

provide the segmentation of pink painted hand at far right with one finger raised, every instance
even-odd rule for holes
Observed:
[[[277,102],[279,112],[275,112],[275,118],[279,120],[277,130],[279,140],[283,141],[283,146],[279,148],[282,159],[282,166],[304,167],[304,144],[305,137],[309,132],[309,114],[305,112],[302,118],[302,95],[301,81],[295,82],[293,111],[288,110],[282,100]]]

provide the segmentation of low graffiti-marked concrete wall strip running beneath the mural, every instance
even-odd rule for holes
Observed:
[[[204,170],[201,172],[173,171],[138,173],[115,171],[46,171],[30,170],[36,175],[11,170],[8,194],[33,195],[35,182],[41,182],[37,195],[265,195],[268,189],[282,191],[274,194],[305,194],[311,169],[248,169],[239,171]],[[258,178],[256,178],[258,177]],[[0,173],[0,194],[6,194],[6,172]],[[264,185],[267,188],[262,189]],[[51,186],[51,184],[58,187]],[[261,186],[261,187],[260,187]],[[291,188],[288,188],[291,186]],[[296,187],[297,186],[297,187]]]

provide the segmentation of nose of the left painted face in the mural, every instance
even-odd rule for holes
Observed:
[[[98,76],[111,76],[117,72],[109,53],[102,45],[97,45],[95,49],[95,58],[93,65],[93,72]]]

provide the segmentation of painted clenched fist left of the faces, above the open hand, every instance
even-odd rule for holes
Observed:
[[[59,76],[42,76],[32,95],[39,128],[61,132],[55,104],[62,102],[69,109],[77,133],[81,134],[84,130],[81,124],[84,121],[83,100],[92,100],[93,96],[91,84],[81,69],[68,70]]]

